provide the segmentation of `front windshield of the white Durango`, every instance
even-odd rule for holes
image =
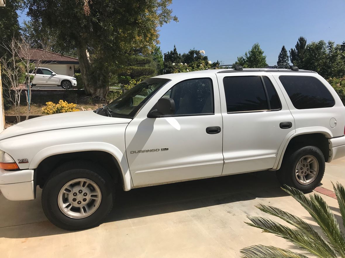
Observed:
[[[167,82],[169,79],[164,78],[144,80],[112,101],[107,105],[107,108],[111,110],[112,116],[133,117],[149,98]]]

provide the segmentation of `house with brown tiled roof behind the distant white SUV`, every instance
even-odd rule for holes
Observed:
[[[19,55],[21,55],[20,52]],[[41,60],[41,67],[49,68],[56,74],[73,77],[75,72],[79,71],[78,58],[65,56],[50,51],[43,51],[42,49],[30,49],[27,56],[30,57],[30,61],[33,63]]]

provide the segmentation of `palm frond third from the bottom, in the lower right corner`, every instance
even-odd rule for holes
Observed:
[[[319,233],[317,233],[317,231],[312,226],[310,226],[308,223],[306,223],[299,217],[272,206],[260,204],[256,207],[260,209],[260,211],[279,217],[287,223],[289,223],[290,225],[297,227],[299,230],[301,230],[301,232],[303,232],[303,234],[312,238],[315,241],[315,243],[322,246],[329,254],[332,255],[332,257],[337,257],[336,253],[331,248],[331,246],[329,246],[329,244],[325,241],[325,239]]]

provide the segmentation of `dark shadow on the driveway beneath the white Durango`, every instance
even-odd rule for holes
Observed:
[[[40,199],[40,192],[37,198]],[[116,222],[125,219],[146,217],[157,214],[186,211],[202,207],[222,205],[256,198],[274,198],[286,196],[287,194],[280,189],[276,180],[275,172],[262,171],[255,173],[229,175],[217,178],[194,180],[174,184],[158,185],[132,189],[128,192],[117,191],[116,201],[111,213],[105,222]],[[36,200],[35,200],[36,201]],[[39,200],[40,201],[40,200]],[[27,201],[31,202],[31,201]],[[261,201],[258,200],[258,203]],[[30,204],[30,203],[29,203]],[[3,204],[0,203],[3,207]],[[244,205],[244,204],[243,204]],[[25,205],[30,207],[29,205]],[[33,208],[39,209],[38,204]],[[10,207],[7,214],[16,216],[23,212],[21,205]],[[253,206],[253,209],[256,209]],[[251,210],[246,213],[249,214]],[[36,211],[36,214],[40,211]],[[229,215],[233,214],[231,209],[227,211]],[[32,214],[31,214],[32,215]],[[28,216],[31,216],[28,213]],[[23,221],[8,226],[0,222],[0,238],[30,238],[49,235],[58,235],[69,233],[55,227],[49,221]],[[245,219],[245,217],[243,218]],[[35,227],[28,230],[27,224],[35,224]],[[91,229],[92,230],[92,229]]]

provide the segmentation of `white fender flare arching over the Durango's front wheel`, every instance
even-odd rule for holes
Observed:
[[[79,151],[104,151],[110,153],[119,164],[121,177],[124,181],[124,190],[129,191],[131,189],[131,176],[126,153],[122,153],[116,146],[106,142],[68,143],[47,147],[34,155],[29,164],[29,169],[36,169],[44,159],[50,156]]]

